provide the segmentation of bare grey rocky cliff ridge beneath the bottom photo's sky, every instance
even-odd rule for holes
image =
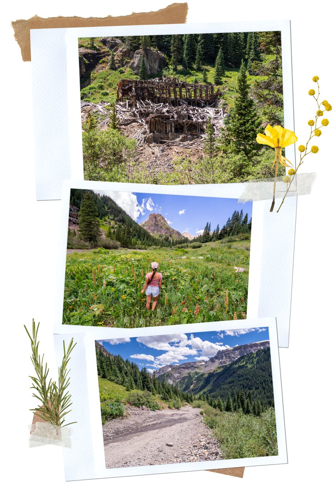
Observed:
[[[209,372],[218,366],[224,366],[234,362],[237,358],[246,354],[257,352],[260,349],[270,347],[269,340],[253,342],[245,345],[238,345],[231,349],[219,350],[209,360],[198,360],[197,362],[185,362],[180,365],[166,365],[155,373],[157,377],[165,376],[169,384],[176,384],[185,374],[189,372]],[[161,377],[164,379],[164,377]]]

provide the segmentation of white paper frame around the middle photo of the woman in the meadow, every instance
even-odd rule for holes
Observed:
[[[237,198],[239,184],[151,185],[85,180],[65,180],[63,182],[54,333],[73,334],[84,331],[94,333],[99,339],[103,339],[106,335],[110,335],[110,332],[114,338],[118,338],[123,333],[123,329],[62,324],[71,188]],[[244,322],[249,318],[276,315],[278,344],[280,347],[287,347],[289,344],[297,197],[285,199],[284,217],[276,212],[269,212],[270,205],[269,200],[253,202],[248,308],[247,320]],[[240,204],[240,208],[242,208],[242,204]]]

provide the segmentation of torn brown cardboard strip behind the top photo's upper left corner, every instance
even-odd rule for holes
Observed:
[[[115,25],[157,25],[184,24],[187,18],[188,4],[172,3],[156,12],[138,12],[126,16],[99,17],[49,17],[37,15],[28,20],[12,22],[14,37],[20,49],[23,61],[31,61],[30,29],[64,29],[69,27],[107,27]]]

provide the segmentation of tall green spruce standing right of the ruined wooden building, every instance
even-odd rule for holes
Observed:
[[[230,116],[225,118],[227,131],[225,137],[235,152],[251,157],[259,147],[256,143],[256,135],[261,127],[261,119],[258,117],[255,103],[250,97],[250,85],[243,61],[237,78],[236,93],[234,107],[230,111]]]

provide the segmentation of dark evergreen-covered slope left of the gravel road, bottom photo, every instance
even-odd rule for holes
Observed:
[[[95,342],[95,346],[98,375],[103,379],[124,386],[127,391],[133,389],[148,390],[154,395],[159,394],[161,399],[165,401],[179,398],[187,403],[193,402],[192,392],[184,392],[177,386],[159,381],[155,372],[150,375],[145,367],[139,371],[134,362],[130,362],[129,359],[124,360],[119,355],[110,354],[99,342]]]

